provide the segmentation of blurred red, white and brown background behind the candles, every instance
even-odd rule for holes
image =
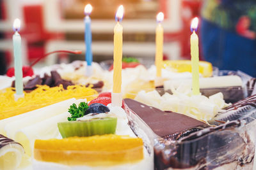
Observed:
[[[113,58],[115,12],[124,4],[124,56],[154,60],[156,15],[164,12],[164,59],[190,59],[191,19],[200,0],[0,0],[0,73],[13,66],[13,20],[20,18],[24,65],[54,50],[81,55],[50,55],[36,66],[84,60],[84,6],[92,4],[93,60]]]

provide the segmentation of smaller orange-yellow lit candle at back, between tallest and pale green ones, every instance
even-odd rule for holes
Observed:
[[[161,77],[162,65],[163,65],[163,41],[164,41],[164,29],[161,24],[164,19],[164,14],[162,12],[157,14],[157,27],[156,27],[156,76]]]

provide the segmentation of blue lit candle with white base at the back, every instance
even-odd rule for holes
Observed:
[[[92,75],[92,31],[91,31],[91,18],[90,14],[92,12],[92,5],[87,4],[84,7],[84,25],[85,25],[85,31],[84,31],[84,41],[86,43],[86,54],[85,59],[87,62],[86,66],[86,76]]]

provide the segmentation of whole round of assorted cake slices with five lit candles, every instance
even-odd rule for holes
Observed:
[[[146,67],[123,59],[119,6],[113,61],[103,69],[93,62],[92,9],[84,8],[86,61],[70,64],[33,69],[51,53],[81,51],[47,53],[22,67],[20,20],[13,23],[14,67],[0,77],[0,169],[256,167],[256,79],[216,74],[199,61],[197,17],[191,60],[163,60],[159,12],[155,64]]]

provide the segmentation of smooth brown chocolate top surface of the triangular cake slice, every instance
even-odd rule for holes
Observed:
[[[209,127],[204,122],[180,113],[161,111],[133,99],[124,99],[124,101],[130,110],[136,113],[152,131],[161,137],[177,134],[193,127]]]

